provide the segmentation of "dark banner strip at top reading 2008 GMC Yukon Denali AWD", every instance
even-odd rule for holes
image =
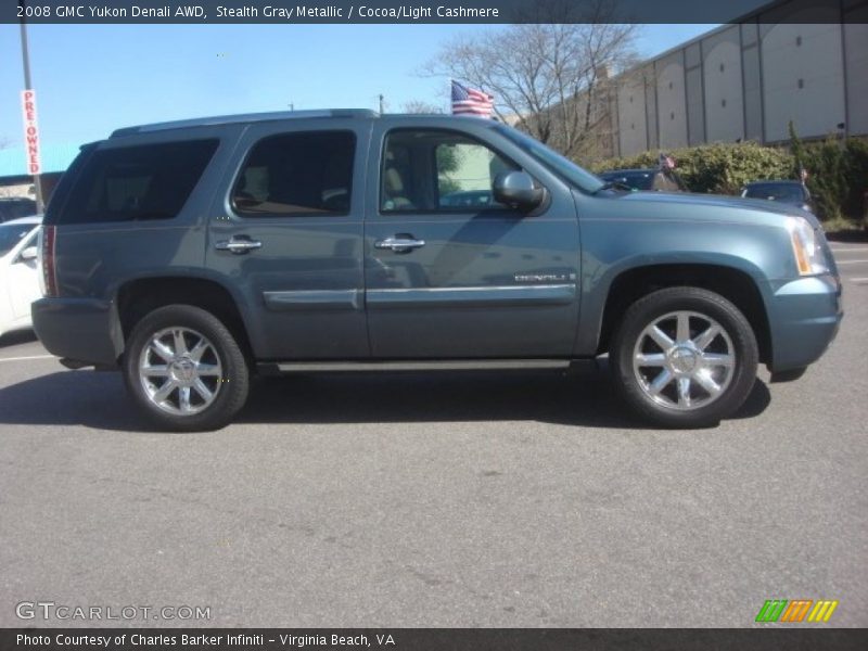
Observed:
[[[868,23],[867,0],[4,0],[0,23]]]

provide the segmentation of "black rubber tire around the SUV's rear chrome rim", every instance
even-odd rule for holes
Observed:
[[[214,390],[209,404],[202,397],[203,394],[196,393],[199,390],[194,390],[192,395],[199,397],[200,403],[191,406],[191,391],[189,387],[187,390],[187,406],[191,409],[200,409],[191,413],[167,411],[175,404],[177,404],[178,410],[182,409],[180,386],[177,386],[161,406],[149,394],[149,388],[153,390],[159,378],[152,383],[149,378],[143,379],[140,373],[140,362],[142,362],[145,347],[151,346],[152,340],[157,334],[173,329],[183,331],[188,342],[196,342],[196,334],[203,336],[210,345],[210,348],[206,348],[205,355],[209,356],[206,361],[216,361],[216,363],[210,363],[210,367],[215,369],[214,372],[208,378],[203,378],[204,383],[207,384],[206,388]],[[150,348],[145,355],[153,357],[153,347]],[[166,362],[166,367],[169,366]],[[194,366],[199,367],[197,363]],[[213,314],[191,305],[168,305],[157,308],[142,318],[132,329],[124,353],[123,373],[124,381],[136,404],[162,429],[175,432],[224,427],[244,406],[250,391],[247,363],[232,333]],[[183,379],[186,380],[187,376]]]

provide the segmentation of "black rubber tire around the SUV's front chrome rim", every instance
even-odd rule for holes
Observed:
[[[679,314],[688,315],[689,345],[681,346],[677,336],[671,336],[674,345],[665,348],[656,343],[656,333],[652,335],[646,329],[655,323],[661,330],[669,324],[677,327]],[[693,339],[703,343],[700,330],[712,332],[711,324],[718,326],[726,335],[717,335],[702,353],[698,347],[690,347]],[[672,334],[672,331],[666,333]],[[714,346],[725,353],[715,353]],[[637,353],[642,355],[642,361],[656,359],[648,367],[637,362],[641,368],[635,369]],[[634,303],[614,333],[609,357],[615,388],[633,410],[651,423],[680,429],[716,425],[741,407],[756,380],[758,350],[751,324],[732,303],[714,292],[685,286],[659,290]],[[727,366],[716,365],[712,357],[730,361]],[[666,361],[661,363],[660,359]],[[705,368],[706,363],[711,366]],[[655,370],[658,366],[661,368]],[[664,378],[664,371],[672,380]],[[702,376],[688,376],[689,373]],[[686,378],[684,404],[679,378]],[[719,393],[705,388],[710,378],[711,390],[717,387]],[[652,395],[656,385],[664,388]]]

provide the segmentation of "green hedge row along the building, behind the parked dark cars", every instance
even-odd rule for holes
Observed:
[[[868,189],[868,142],[830,139],[790,149],[755,142],[704,144],[668,150],[676,171],[691,192],[738,194],[744,183],[765,179],[797,179],[799,161],[808,171],[807,187],[821,219],[860,218]],[[593,171],[654,167],[658,151],[595,163]]]

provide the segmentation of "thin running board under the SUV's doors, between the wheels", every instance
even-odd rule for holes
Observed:
[[[260,363],[261,371],[281,373],[327,371],[485,371],[566,369],[571,359],[446,359],[404,361],[278,361]]]

